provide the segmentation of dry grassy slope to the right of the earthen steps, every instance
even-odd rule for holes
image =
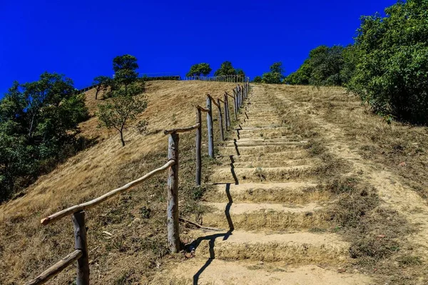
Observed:
[[[268,86],[267,90],[285,126],[310,139],[310,154],[322,160],[314,175],[325,185],[317,191],[327,191],[335,199],[330,206],[333,231],[350,242],[353,261],[348,269],[370,274],[379,284],[425,284],[427,256],[415,255],[410,239],[417,232],[414,215],[386,206],[371,183],[379,186],[377,182],[394,177],[426,198],[428,128],[397,122],[389,126],[342,88]],[[373,169],[384,169],[389,177],[378,172],[371,182]],[[422,213],[427,214],[421,209]]]

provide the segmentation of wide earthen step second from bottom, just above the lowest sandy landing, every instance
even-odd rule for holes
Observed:
[[[284,261],[287,264],[341,264],[349,244],[337,234],[310,232],[192,231],[195,256],[225,260]]]

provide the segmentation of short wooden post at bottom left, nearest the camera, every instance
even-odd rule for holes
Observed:
[[[86,240],[85,211],[73,214],[74,249],[82,251],[77,259],[76,285],[89,285],[88,241]]]

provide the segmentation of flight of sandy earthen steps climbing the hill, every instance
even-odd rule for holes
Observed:
[[[164,269],[154,283],[169,284],[370,284],[343,272],[349,244],[325,226],[327,194],[310,191],[320,181],[307,141],[282,126],[266,97],[253,86],[240,127],[220,149],[222,165],[211,176],[217,193],[204,225],[191,231],[195,257]],[[286,282],[286,283],[285,283]]]

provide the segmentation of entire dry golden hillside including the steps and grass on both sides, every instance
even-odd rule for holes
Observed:
[[[42,227],[42,217],[164,164],[163,129],[193,124],[192,105],[234,86],[149,82],[148,134],[127,133],[123,148],[96,118],[81,124],[97,143],[0,206],[0,284],[73,249],[71,219]],[[192,184],[194,137],[180,139],[180,215],[221,231],[182,227],[188,252],[168,254],[157,177],[88,211],[92,284],[427,283],[427,127],[389,126],[342,88],[253,84],[236,129],[218,159],[204,156],[203,191]]]

